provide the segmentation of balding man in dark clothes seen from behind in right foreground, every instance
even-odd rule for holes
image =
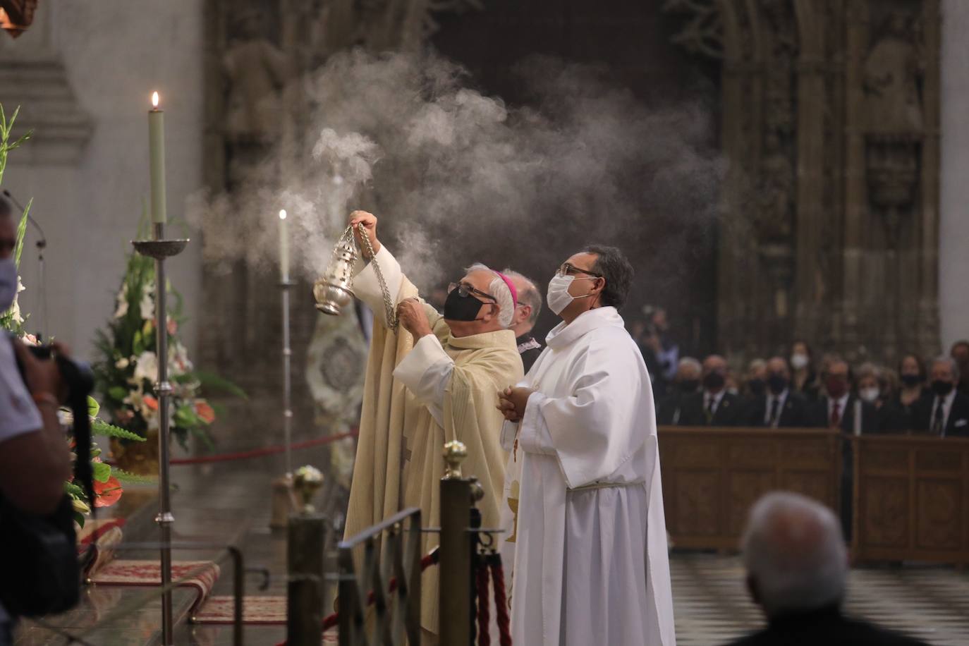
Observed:
[[[848,551],[830,509],[775,491],[751,509],[741,541],[747,590],[767,626],[732,646],[924,646],[841,612]]]

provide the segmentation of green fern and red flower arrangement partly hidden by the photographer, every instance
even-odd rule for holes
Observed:
[[[11,131],[13,130],[18,111],[19,108],[14,111],[14,114],[11,115],[11,118],[8,121],[3,110],[3,106],[0,106],[0,182],[3,181],[3,173],[7,167],[7,154],[21,143],[28,140],[31,135],[31,133],[28,132],[11,143]],[[32,201],[33,200],[27,202],[27,206],[24,209],[23,215],[20,216],[20,221],[16,229],[14,261],[16,262],[17,267],[20,265],[20,254],[23,250],[23,238],[27,227],[27,214],[30,212],[30,205]],[[23,290],[23,283],[20,282],[19,277],[17,277],[17,293],[23,292]],[[37,338],[26,332],[24,328],[25,320],[26,317],[21,315],[20,308],[15,300],[14,305],[8,311],[0,314],[0,330],[6,330],[8,333],[13,334],[25,344],[36,346],[38,345]],[[131,441],[143,442],[139,436],[129,433],[128,431],[118,428],[117,426],[112,426],[102,419],[99,419],[98,402],[95,401],[93,397],[87,398],[87,409],[88,415],[91,418],[91,435],[108,438],[124,438]],[[73,420],[71,419],[70,411],[67,409],[61,409],[60,418],[61,422],[65,426],[73,427]],[[74,438],[68,434],[66,439],[71,446],[71,452],[74,454],[74,459],[77,459],[77,453],[75,451],[76,443]],[[84,492],[84,488],[79,482],[75,481],[74,478],[64,483],[64,490],[68,496],[71,497],[74,504],[75,520],[78,521],[80,526],[84,525],[85,514],[90,513],[92,505],[96,508],[102,508],[110,507],[111,505],[117,503],[123,492],[123,488],[121,486],[122,481],[143,481],[145,479],[125,473],[119,469],[112,469],[109,464],[102,462],[101,447],[93,442],[91,443],[91,468],[94,474],[95,499],[93,501],[88,500],[87,494]]]

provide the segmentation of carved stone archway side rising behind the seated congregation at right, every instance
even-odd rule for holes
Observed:
[[[719,346],[938,352],[938,0],[668,0],[721,62]]]

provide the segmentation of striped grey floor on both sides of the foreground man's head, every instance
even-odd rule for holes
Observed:
[[[736,557],[674,554],[678,646],[723,644],[764,625]],[[854,569],[847,612],[937,646],[969,644],[969,572],[933,566]]]

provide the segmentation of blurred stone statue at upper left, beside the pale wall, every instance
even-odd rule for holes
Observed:
[[[237,18],[236,37],[223,57],[229,82],[226,131],[230,140],[267,141],[279,136],[286,54],[262,34],[262,15],[249,10]]]

